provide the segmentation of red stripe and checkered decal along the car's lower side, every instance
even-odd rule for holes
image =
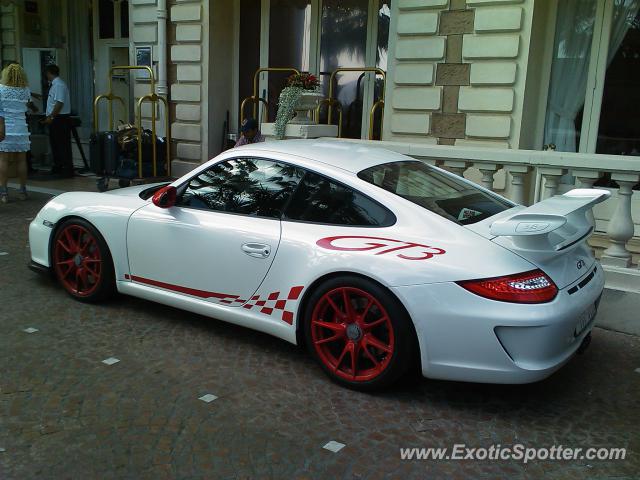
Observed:
[[[302,294],[302,290],[304,290],[304,287],[292,287],[287,295],[282,295],[282,298],[280,292],[272,292],[264,300],[260,299],[260,295],[254,295],[250,300],[244,300],[240,298],[239,295],[196,290],[194,288],[181,287],[180,285],[173,285],[171,283],[164,283],[158,280],[137,277],[135,275],[125,275],[124,277],[133,282],[143,283],[145,285],[151,285],[153,287],[159,287],[173,292],[185,293],[194,297],[215,298],[224,305],[242,305],[247,310],[259,308],[260,313],[263,315],[275,315],[276,313],[282,312],[282,321],[289,325],[293,324],[294,313],[286,309],[287,303],[298,300]]]

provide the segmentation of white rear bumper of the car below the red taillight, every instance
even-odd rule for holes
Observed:
[[[530,383],[564,365],[591,332],[604,289],[602,268],[537,305],[488,300],[455,283],[397,287],[413,319],[425,377],[482,383]]]

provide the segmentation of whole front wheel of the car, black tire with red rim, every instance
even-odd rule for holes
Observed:
[[[86,220],[71,218],[56,228],[51,266],[60,285],[76,300],[95,303],[116,293],[109,247]]]

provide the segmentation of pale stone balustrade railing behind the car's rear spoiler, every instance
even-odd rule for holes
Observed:
[[[611,288],[640,292],[640,266],[629,245],[640,246],[640,192],[632,202],[632,187],[640,182],[640,157],[577,154],[554,151],[508,150],[485,147],[353,141],[386,148],[445,168],[511,200],[530,205],[570,188],[593,188],[605,174],[618,185],[612,197],[595,212],[592,246],[607,272]],[[633,206],[633,208],[632,208]],[[634,233],[637,234],[634,237]],[[640,249],[636,247],[636,254]]]

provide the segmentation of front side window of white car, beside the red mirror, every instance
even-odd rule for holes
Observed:
[[[280,218],[303,171],[258,158],[225,160],[193,177],[177,204],[217,212]]]

